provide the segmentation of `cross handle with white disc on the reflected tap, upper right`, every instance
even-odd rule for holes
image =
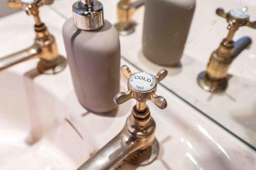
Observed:
[[[247,7],[244,7],[243,9],[232,9],[227,13],[222,8],[218,8],[216,14],[227,19],[227,29],[238,30],[238,28],[242,26],[256,29],[256,21],[249,20],[250,15],[247,12]]]

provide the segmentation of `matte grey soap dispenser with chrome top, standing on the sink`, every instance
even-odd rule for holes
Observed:
[[[103,19],[102,4],[76,2],[62,33],[80,104],[96,113],[117,109],[113,98],[120,86],[120,41],[115,27]]]

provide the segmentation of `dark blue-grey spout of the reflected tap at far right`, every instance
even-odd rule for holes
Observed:
[[[242,37],[234,42],[232,57],[236,58],[245,48],[247,48],[251,44],[251,42],[251,38],[247,36]]]

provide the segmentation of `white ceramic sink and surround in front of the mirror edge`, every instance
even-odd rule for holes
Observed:
[[[42,7],[41,15],[56,37],[60,54],[65,55],[61,36],[65,17],[53,7]],[[32,18],[25,14],[5,17],[0,25],[5,26],[0,28],[0,56],[33,42]],[[75,169],[121,130],[135,101],[121,105],[115,115],[90,113],[76,99],[69,67],[57,75],[38,75],[36,63],[31,60],[0,73],[0,162],[4,160],[0,169]],[[124,60],[121,64],[138,71]],[[145,71],[155,75],[158,70]],[[123,77],[121,85],[126,91]],[[255,151],[163,86],[158,86],[157,94],[168,103],[160,110],[148,102],[156,120],[160,155],[148,166],[124,164],[123,169],[255,170]],[[26,140],[37,142],[28,145]]]

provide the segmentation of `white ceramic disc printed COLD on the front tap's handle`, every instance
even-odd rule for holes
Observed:
[[[156,86],[156,78],[152,74],[140,71],[130,77],[129,84],[136,91],[151,91]]]

